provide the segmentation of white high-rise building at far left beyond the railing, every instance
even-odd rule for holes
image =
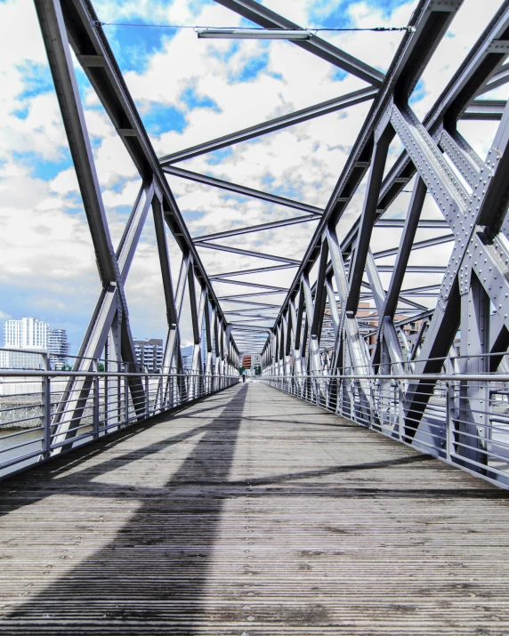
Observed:
[[[4,348],[14,351],[0,351],[0,366],[11,369],[44,368],[44,357],[41,354],[48,351],[49,332],[48,323],[38,318],[6,320]],[[16,349],[22,351],[15,351]]]

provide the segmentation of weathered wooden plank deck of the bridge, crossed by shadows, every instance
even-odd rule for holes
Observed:
[[[0,484],[4,634],[509,633],[509,497],[262,384]]]

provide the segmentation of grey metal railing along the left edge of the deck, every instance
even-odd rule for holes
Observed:
[[[238,381],[184,372],[0,369],[0,478]]]

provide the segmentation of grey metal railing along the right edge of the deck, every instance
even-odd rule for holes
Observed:
[[[509,374],[279,374],[260,380],[509,489]],[[409,381],[417,380],[410,395]]]

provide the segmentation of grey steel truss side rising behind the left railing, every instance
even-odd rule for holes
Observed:
[[[189,263],[189,280],[198,278],[202,294],[207,302],[214,305],[214,320],[227,328],[222,310],[215,298],[214,289],[199,260],[190,234],[182,221],[182,215],[174,201],[166,178],[161,172],[158,159],[152,149],[147,133],[128,93],[123,76],[109,48],[109,44],[97,24],[93,6],[87,0],[38,0],[37,15],[43,32],[44,45],[52,69],[62,117],[69,140],[69,148],[77,171],[77,178],[85,205],[87,220],[93,237],[102,291],[84,342],[79,350],[76,370],[90,370],[93,360],[103,354],[105,365],[111,369],[138,370],[131,334],[128,307],[124,294],[125,278],[129,272],[133,255],[150,205],[154,211],[154,221],[158,240],[159,261],[163,278],[168,322],[166,342],[166,367],[175,358],[175,349],[180,342],[178,316],[172,288],[169,254],[166,244],[166,226],[173,232],[182,250],[182,259]],[[69,47],[70,44],[70,47]],[[127,222],[117,254],[113,251],[109,238],[109,228],[101,200],[91,144],[85,125],[81,99],[77,90],[77,80],[72,65],[71,48],[85,70],[94,90],[117,129],[125,147],[136,165],[143,185]],[[183,289],[180,290],[183,294]],[[191,303],[192,304],[192,303]],[[203,317],[202,317],[203,319]],[[208,333],[208,332],[207,332]],[[201,332],[200,332],[201,337]],[[221,374],[230,374],[238,363],[238,349],[229,334],[229,354],[218,366]],[[144,412],[144,388],[141,381],[128,377],[125,390],[129,390],[137,415]],[[106,382],[107,401],[118,389],[119,382]],[[79,422],[85,415],[85,403],[93,384],[87,380],[70,379],[62,394],[59,407],[53,416],[53,431],[59,445],[53,453],[66,449],[66,440],[76,437]],[[161,386],[162,390],[162,386]],[[77,396],[73,417],[65,421],[66,404],[70,396]],[[126,402],[126,399],[125,399]],[[109,402],[108,402],[109,403]],[[76,441],[76,439],[74,440]],[[73,442],[70,441],[69,444]]]

